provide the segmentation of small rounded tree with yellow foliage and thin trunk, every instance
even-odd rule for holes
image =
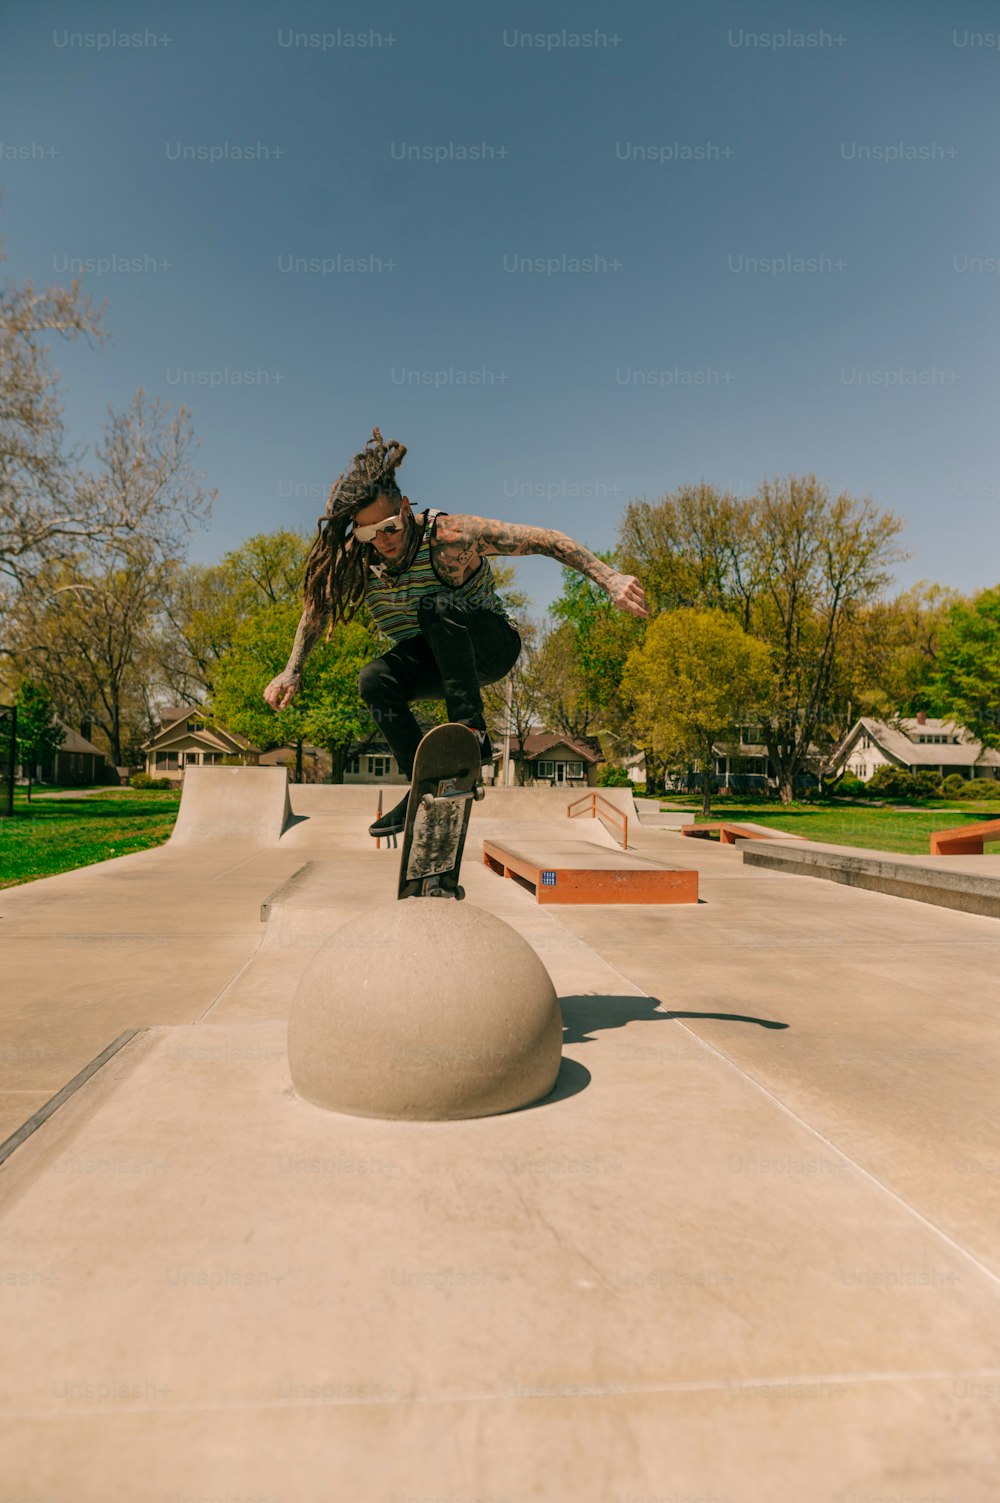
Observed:
[[[717,607],[668,610],[629,654],[623,687],[644,744],[663,761],[699,767],[708,818],[716,741],[753,720],[773,693],[767,646]]]

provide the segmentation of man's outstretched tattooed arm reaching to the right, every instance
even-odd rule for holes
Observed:
[[[460,585],[487,555],[546,553],[565,568],[586,574],[633,616],[648,616],[642,585],[632,574],[620,574],[602,564],[589,549],[555,528],[532,528],[520,522],[493,522],[487,517],[444,516],[435,519],[430,547],[442,579]]]

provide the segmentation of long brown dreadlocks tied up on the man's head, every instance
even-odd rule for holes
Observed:
[[[371,555],[370,543],[358,543],[347,534],[355,516],[379,496],[402,500],[395,470],[403,463],[406,445],[395,439],[383,442],[377,428],[361,454],[334,481],[326,497],[326,516],[319,519],[317,537],[305,558],[305,606],[320,619],[329,618],[326,642],[338,621],[352,621],[364,601],[364,586]]]

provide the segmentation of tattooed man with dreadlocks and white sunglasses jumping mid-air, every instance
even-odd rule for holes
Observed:
[[[414,516],[395,482],[405,454],[405,445],[383,443],[373,428],[331,490],[305,562],[305,606],[292,654],[263,697],[272,709],[284,709],[323,622],[329,621],[329,639],[335,622],[350,621],[364,601],[392,646],[365,664],[358,688],[400,771],[411,777],[421,739],[409,708],[415,699],[444,699],[448,718],[475,730],[483,762],[493,761],[481,687],[510,673],[522,643],[496,594],[490,556],[546,553],[586,574],[630,615],[650,612],[638,579],[602,564],[564,532],[432,507]],[[408,797],[368,833],[402,830]]]

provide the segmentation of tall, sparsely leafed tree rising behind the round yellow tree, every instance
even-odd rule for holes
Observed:
[[[746,502],[698,485],[626,513],[621,567],[651,580],[660,609],[722,609],[770,648],[761,726],[785,803],[814,739],[835,739],[844,654],[905,558],[901,528],[868,497],[832,499],[815,475],[765,479]]]

